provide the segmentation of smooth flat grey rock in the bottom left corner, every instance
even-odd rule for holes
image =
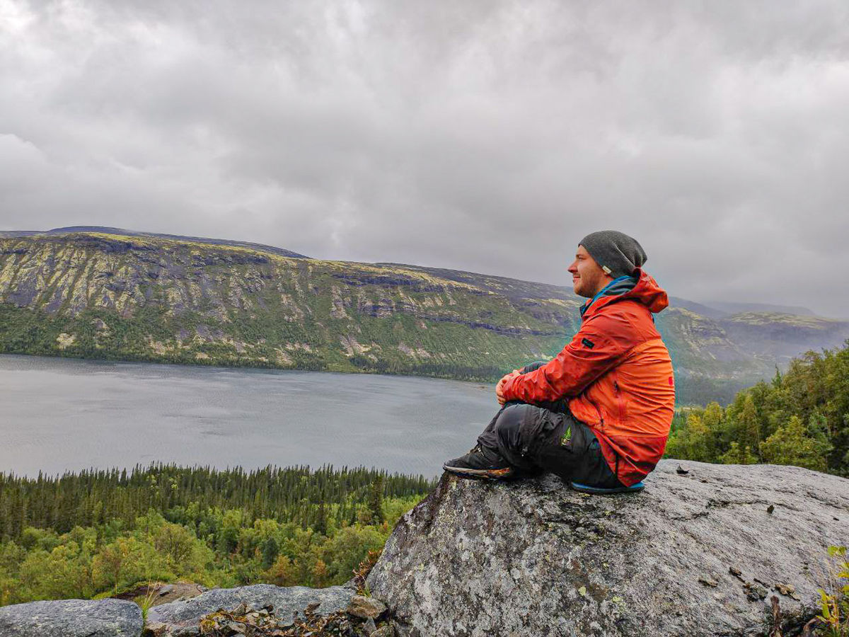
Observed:
[[[138,637],[142,609],[125,600],[31,601],[0,608],[3,637]]]

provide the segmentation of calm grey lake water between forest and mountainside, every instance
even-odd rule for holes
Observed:
[[[0,355],[0,472],[151,461],[374,466],[436,476],[498,409],[430,378]]]

